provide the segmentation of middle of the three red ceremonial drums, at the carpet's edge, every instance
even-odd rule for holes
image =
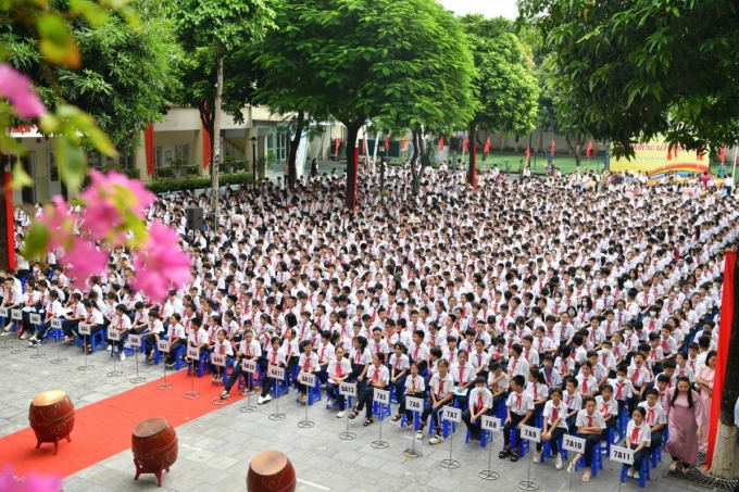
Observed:
[[[170,471],[170,467],[177,461],[177,433],[162,417],[143,420],[134,428],[131,438],[136,478],[141,474],[154,474],[159,487],[162,487],[162,470]]]

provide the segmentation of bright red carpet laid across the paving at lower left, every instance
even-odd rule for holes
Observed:
[[[222,407],[211,403],[223,391],[223,384],[216,388],[211,383],[210,374],[196,377],[195,390],[201,393],[196,400],[183,396],[191,384],[186,370],[167,375],[167,382],[174,384],[171,390],[160,390],[161,382],[163,378],[77,409],[72,442],[60,441],[57,456],[53,443],[36,449],[36,436],[30,427],[1,438],[0,467],[11,466],[17,475],[33,470],[67,477],[130,450],[134,427],[147,418],[164,417],[171,426],[178,427]],[[242,398],[234,388],[228,404]],[[133,474],[133,454],[130,466]]]

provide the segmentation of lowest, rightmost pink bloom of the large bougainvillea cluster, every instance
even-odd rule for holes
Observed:
[[[179,247],[179,238],[170,227],[154,222],[149,238],[134,254],[136,277],[133,287],[152,302],[163,301],[170,288],[180,288],[190,278],[190,260]]]

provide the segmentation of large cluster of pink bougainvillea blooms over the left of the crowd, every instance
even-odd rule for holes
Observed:
[[[90,275],[105,270],[109,252],[98,244],[135,247],[133,287],[152,302],[163,301],[171,288],[187,282],[190,262],[173,229],[160,222],[146,229],[143,211],[154,194],[141,181],[118,173],[92,171],[90,178],[89,188],[79,195],[85,202],[79,214],[71,212],[61,197],[54,197],[54,206],[45,210],[39,222],[50,232],[47,248],[64,249],[59,263],[68,270],[74,285],[83,289]],[[82,236],[75,235],[75,222],[82,223]]]

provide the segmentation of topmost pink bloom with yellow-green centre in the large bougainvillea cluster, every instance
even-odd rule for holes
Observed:
[[[154,193],[138,179],[120,173],[90,171],[90,186],[79,194],[86,205],[85,229],[95,239],[125,242],[135,223],[143,218],[143,209],[154,201]]]

